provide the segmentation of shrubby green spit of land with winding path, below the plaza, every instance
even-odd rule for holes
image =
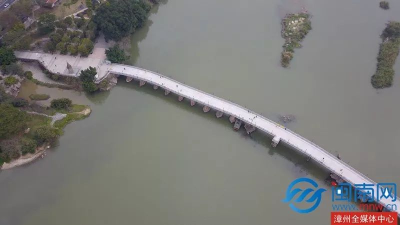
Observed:
[[[67,115],[56,121],[57,125],[51,125],[50,117],[26,111],[47,115],[61,112]],[[67,123],[82,119],[89,113],[88,106],[72,104],[68,98],[54,99],[50,107],[44,107],[28,104],[26,100],[12,97],[0,88],[0,166],[21,155],[43,149],[62,134],[62,128]]]

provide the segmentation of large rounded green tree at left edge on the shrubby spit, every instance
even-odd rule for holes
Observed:
[[[10,104],[0,104],[0,138],[6,138],[25,127],[26,112]]]

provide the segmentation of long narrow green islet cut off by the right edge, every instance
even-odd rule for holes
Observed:
[[[393,83],[393,65],[400,47],[400,22],[389,21],[381,38],[376,72],[371,77],[371,84],[375,88],[390,87]]]

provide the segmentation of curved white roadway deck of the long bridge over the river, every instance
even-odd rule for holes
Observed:
[[[336,173],[347,182],[353,185],[362,183],[374,184],[374,189],[376,190],[376,183],[373,180],[369,179],[362,173],[358,172],[356,169],[344,163],[342,160],[338,159],[334,155],[325,151],[313,142],[298,135],[297,133],[294,133],[293,131],[280,126],[276,122],[271,121],[268,118],[265,118],[264,116],[248,110],[240,105],[224,100],[212,94],[205,93],[201,90],[195,89],[169,77],[146,69],[113,63],[109,66],[108,70],[111,73],[130,76],[158,85],[178,95],[189,98],[203,105],[208,105],[211,108],[222,111],[229,115],[233,115],[236,118],[240,118],[244,122],[249,123],[272,136],[280,137],[280,141],[291,145],[293,148],[308,155],[315,161],[318,161],[320,164],[325,166],[330,171]],[[254,116],[256,117],[254,118]],[[390,182],[390,180],[388,180],[387,182]],[[379,196],[380,194],[381,192],[379,191]],[[376,198],[376,192],[374,195],[374,197]],[[397,215],[400,215],[400,198],[397,197],[395,201],[391,200],[392,199],[390,198],[383,198],[379,200],[379,203],[383,205],[396,204],[397,209],[394,211],[397,212]]]

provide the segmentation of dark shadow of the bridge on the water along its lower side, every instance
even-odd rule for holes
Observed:
[[[201,116],[234,132],[233,123],[229,122],[228,115],[224,114],[222,117],[217,118],[215,116],[216,110],[212,108],[208,112],[204,113],[202,110],[203,105],[196,103],[194,106],[190,106],[190,100],[186,98],[184,98],[182,101],[178,101],[177,94],[170,92],[168,95],[164,95],[164,89],[161,87],[158,87],[158,89],[154,90],[153,85],[148,83],[143,86],[139,86],[138,81],[134,79],[130,82],[126,82],[125,76],[123,75],[118,77],[117,85],[155,96],[159,99],[162,99],[164,102],[175,105],[182,110],[190,112],[191,114]],[[251,143],[253,148],[257,148],[257,145],[266,148],[268,155],[273,158],[280,157],[292,162],[292,166],[288,166],[288,170],[293,172],[293,175],[296,177],[313,176],[316,179],[321,180],[320,183],[322,183],[322,181],[324,181],[329,175],[329,171],[320,166],[318,162],[314,161],[313,159],[307,160],[306,155],[303,155],[284,142],[279,142],[276,147],[272,147],[272,136],[258,129],[250,134],[247,134],[242,124],[240,129],[237,131],[237,135]],[[328,183],[326,184],[329,185]]]

